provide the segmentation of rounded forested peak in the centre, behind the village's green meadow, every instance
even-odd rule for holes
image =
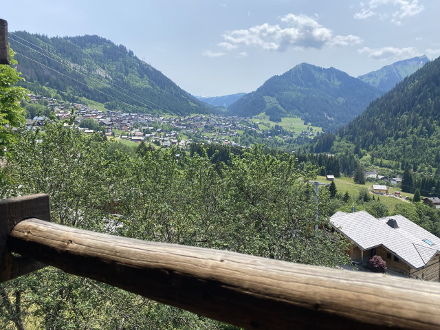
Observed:
[[[228,108],[233,115],[251,116],[263,111],[272,118],[299,116],[327,131],[347,124],[382,92],[333,67],[307,63],[246,94]]]

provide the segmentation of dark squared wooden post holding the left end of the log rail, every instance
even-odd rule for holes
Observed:
[[[45,267],[42,263],[25,256],[12,256],[8,249],[12,228],[19,221],[29,217],[50,221],[48,195],[0,199],[0,283]]]

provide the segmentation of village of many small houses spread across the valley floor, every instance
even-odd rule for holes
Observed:
[[[205,144],[223,144],[246,148],[239,142],[239,135],[245,131],[263,139],[275,138],[270,135],[269,125],[261,124],[252,118],[238,116],[225,117],[222,115],[189,115],[186,117],[152,115],[148,113],[122,113],[122,111],[100,111],[81,103],[58,103],[55,98],[47,98],[28,94],[31,103],[43,100],[50,107],[58,120],[69,120],[74,109],[74,127],[86,134],[96,131],[102,132],[113,140],[126,140],[131,142],[146,142],[168,148],[179,144],[184,147],[191,142]],[[26,128],[32,129],[43,126],[47,118],[36,115],[26,122]],[[255,119],[255,118],[254,118]],[[258,120],[259,117],[256,117]],[[83,120],[94,120],[100,125],[100,130],[89,129],[81,125]],[[67,125],[67,123],[65,124]],[[314,137],[316,134],[309,130],[295,132],[283,130],[283,135],[276,138],[281,140],[294,139],[295,137]]]

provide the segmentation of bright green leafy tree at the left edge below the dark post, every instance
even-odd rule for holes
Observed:
[[[11,49],[9,54],[11,63],[17,65]],[[9,65],[0,65],[0,155],[5,146],[14,140],[12,127],[18,127],[25,121],[20,103],[26,97],[27,91],[23,87],[15,86],[20,80],[23,78],[16,69]]]

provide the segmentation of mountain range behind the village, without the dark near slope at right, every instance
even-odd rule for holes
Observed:
[[[9,40],[25,77],[23,86],[37,94],[100,102],[111,110],[173,115],[224,113],[228,107],[227,114],[243,117],[265,112],[280,121],[297,116],[324,131],[349,123],[384,88],[428,61],[426,56],[399,61],[360,78],[302,63],[249,94],[196,98],[123,45],[100,36],[48,38],[13,32]]]

